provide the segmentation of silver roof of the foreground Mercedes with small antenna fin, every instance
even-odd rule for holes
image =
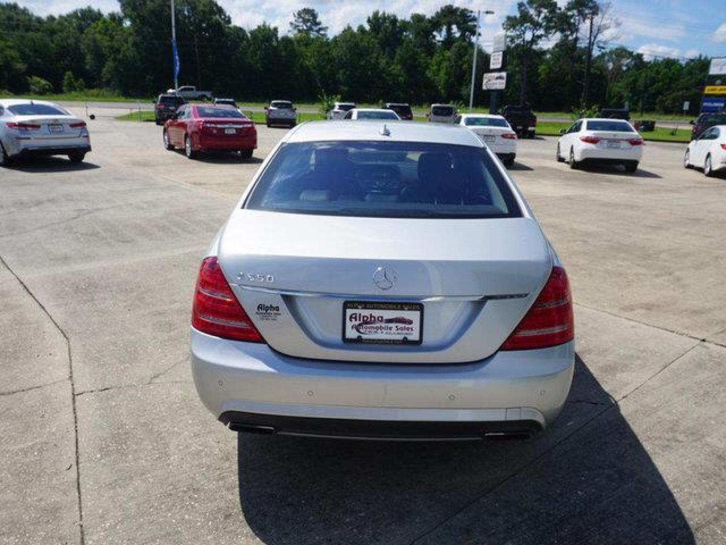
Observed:
[[[386,126],[388,134],[381,134]],[[377,142],[429,142],[484,148],[484,143],[466,127],[441,126],[381,119],[367,123],[349,121],[308,121],[282,138],[283,142],[330,142],[333,140],[367,140]]]

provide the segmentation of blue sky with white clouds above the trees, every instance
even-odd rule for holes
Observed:
[[[15,0],[39,15],[59,14],[93,5],[104,11],[118,9],[116,0]],[[506,15],[515,11],[517,0],[218,0],[237,25],[251,28],[267,21],[287,31],[292,13],[314,7],[322,22],[337,33],[346,25],[364,23],[375,9],[401,17],[411,13],[436,12],[452,3],[469,9],[492,9],[483,18],[482,45],[491,45],[492,35]],[[558,0],[564,3],[566,0]],[[610,31],[613,43],[623,44],[645,55],[694,57],[698,54],[726,56],[726,0],[611,0],[616,25]]]

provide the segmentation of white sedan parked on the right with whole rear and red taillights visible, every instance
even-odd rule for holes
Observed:
[[[578,119],[562,132],[556,157],[570,163],[571,169],[586,162],[616,163],[635,172],[643,158],[643,137],[621,119]]]

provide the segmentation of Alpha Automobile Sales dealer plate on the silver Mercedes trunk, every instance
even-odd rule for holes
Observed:
[[[343,341],[368,344],[421,344],[423,304],[346,301]]]

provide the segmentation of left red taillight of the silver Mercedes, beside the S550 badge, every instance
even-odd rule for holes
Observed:
[[[202,262],[192,306],[192,327],[234,341],[265,342],[232,293],[216,257]]]

